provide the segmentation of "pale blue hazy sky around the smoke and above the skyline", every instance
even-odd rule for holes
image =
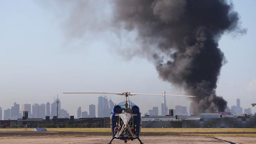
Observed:
[[[47,1],[50,3],[50,1]],[[56,3],[55,3],[56,4]],[[58,4],[58,3],[57,3]],[[223,35],[219,47],[228,63],[221,70],[217,94],[228,106],[251,107],[256,103],[256,41],[255,0],[235,0],[234,9],[241,16],[247,34],[239,37]],[[48,6],[32,0],[0,1],[0,107],[10,108],[13,102],[52,103],[59,93],[62,108],[76,116],[79,106],[89,111],[99,95],[64,95],[62,92],[143,92],[184,94],[158,78],[155,66],[147,59],[127,59],[119,51],[123,45],[111,30],[104,33],[87,31],[68,37],[71,24],[65,22],[69,10],[58,5]],[[89,15],[89,13],[88,13]],[[96,26],[95,26],[96,27]],[[96,29],[94,25],[86,27]],[[101,29],[98,29],[100,31]],[[79,31],[79,30],[78,30]],[[95,30],[94,30],[95,31]],[[108,95],[110,97],[110,95]],[[114,103],[123,100],[111,96]],[[153,106],[161,107],[161,97],[136,96],[130,98],[141,113]],[[167,97],[167,106],[189,106],[187,98]],[[97,110],[96,110],[97,111]]]

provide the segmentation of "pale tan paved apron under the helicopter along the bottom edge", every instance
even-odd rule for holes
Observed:
[[[202,136],[141,136],[144,144],[253,144],[255,137],[202,137]],[[0,136],[2,144],[107,144],[111,136]],[[112,144],[124,144],[113,140]],[[139,144],[138,140],[127,144]]]

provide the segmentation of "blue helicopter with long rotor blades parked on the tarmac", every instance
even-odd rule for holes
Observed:
[[[141,113],[139,107],[129,101],[129,96],[135,95],[156,95],[156,96],[182,96],[182,97],[195,97],[185,95],[174,95],[174,94],[139,94],[131,92],[121,93],[109,93],[109,92],[63,92],[63,94],[117,94],[124,96],[124,102],[115,105],[111,112],[111,132],[112,139],[108,144],[116,138],[124,140],[127,143],[128,140],[139,140],[140,144],[143,144],[139,138],[141,131]]]

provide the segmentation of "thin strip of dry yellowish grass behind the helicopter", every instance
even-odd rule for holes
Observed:
[[[27,128],[32,131],[33,128]],[[25,131],[25,128],[0,128],[0,131]],[[110,132],[110,128],[47,128],[47,131]],[[142,128],[143,133],[256,133],[252,128]],[[256,134],[255,134],[256,135]]]

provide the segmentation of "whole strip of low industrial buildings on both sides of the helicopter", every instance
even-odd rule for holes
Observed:
[[[235,116],[200,114],[200,116],[142,116],[142,127],[150,128],[256,128],[256,115]],[[22,118],[0,120],[1,127],[110,127],[110,118]]]

